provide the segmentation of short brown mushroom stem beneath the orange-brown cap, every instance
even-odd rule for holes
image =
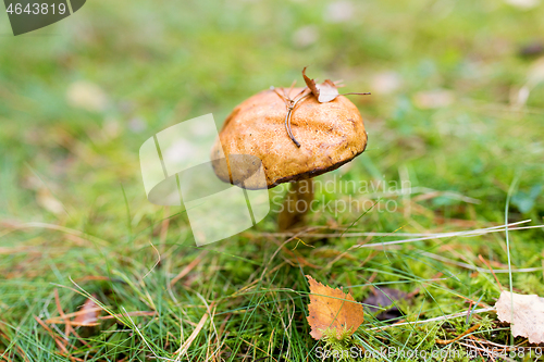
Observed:
[[[313,201],[313,180],[302,179],[290,184],[283,208],[277,215],[277,228],[287,230],[304,221]]]

